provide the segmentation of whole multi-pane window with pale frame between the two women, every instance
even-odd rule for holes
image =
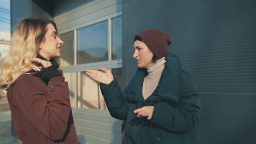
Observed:
[[[122,88],[121,16],[61,34],[59,63],[68,81],[72,107],[107,110],[97,81],[86,69],[111,69]]]

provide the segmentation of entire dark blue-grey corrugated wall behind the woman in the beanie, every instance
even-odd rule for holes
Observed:
[[[125,84],[137,68],[133,35],[163,29],[201,95],[202,143],[255,143],[256,1],[126,1],[123,19]]]

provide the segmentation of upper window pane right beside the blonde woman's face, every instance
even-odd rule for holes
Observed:
[[[60,37],[64,44],[61,46],[61,56],[58,62],[61,67],[74,65],[74,32],[60,34]]]

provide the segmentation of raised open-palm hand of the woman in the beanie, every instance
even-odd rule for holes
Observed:
[[[108,85],[114,80],[111,71],[106,68],[101,68],[101,71],[88,69],[86,70],[86,74],[89,75],[92,79],[105,85]]]

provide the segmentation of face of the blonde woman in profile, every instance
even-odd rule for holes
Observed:
[[[45,33],[45,41],[39,45],[39,54],[50,60],[53,57],[61,56],[61,45],[63,41],[57,36],[55,27],[49,23]]]

